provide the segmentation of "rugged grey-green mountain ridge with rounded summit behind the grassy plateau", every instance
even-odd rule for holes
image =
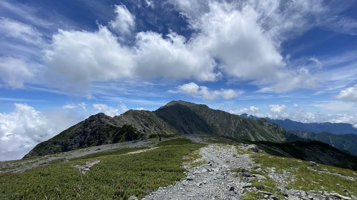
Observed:
[[[206,105],[171,101],[153,112],[129,110],[115,117],[103,113],[90,116],[37,144],[24,158],[132,141],[153,134],[212,134],[271,142],[306,140],[265,119],[246,119]]]

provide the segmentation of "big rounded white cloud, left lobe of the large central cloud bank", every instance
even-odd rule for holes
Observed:
[[[117,43],[117,37],[104,26],[96,32],[59,30],[44,53],[49,76],[56,76],[50,79],[64,76],[62,81],[79,89],[86,88],[91,81],[132,76],[130,49]]]

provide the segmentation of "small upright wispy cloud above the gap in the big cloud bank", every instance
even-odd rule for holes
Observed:
[[[115,5],[115,20],[111,20],[109,27],[117,33],[130,33],[135,26],[135,16],[130,13],[125,5]]]

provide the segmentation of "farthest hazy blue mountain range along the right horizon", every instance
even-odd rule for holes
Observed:
[[[254,119],[254,120],[260,119],[260,117],[248,115],[246,113],[243,113],[239,116],[249,119]],[[333,134],[348,134],[348,133],[357,134],[357,128],[353,128],[353,125],[350,123],[330,123],[330,122],[302,123],[302,122],[292,121],[289,119],[277,120],[277,119],[270,119],[268,117],[266,117],[265,119],[268,122],[278,124],[279,126],[285,128],[288,131],[302,131],[302,132],[313,132],[313,133],[329,132]]]

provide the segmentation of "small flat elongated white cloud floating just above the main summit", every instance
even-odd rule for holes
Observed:
[[[179,85],[178,91],[191,96],[201,95],[204,100],[213,100],[218,98],[233,99],[242,93],[241,91],[235,91],[232,89],[210,90],[206,86],[198,86],[193,82]]]

